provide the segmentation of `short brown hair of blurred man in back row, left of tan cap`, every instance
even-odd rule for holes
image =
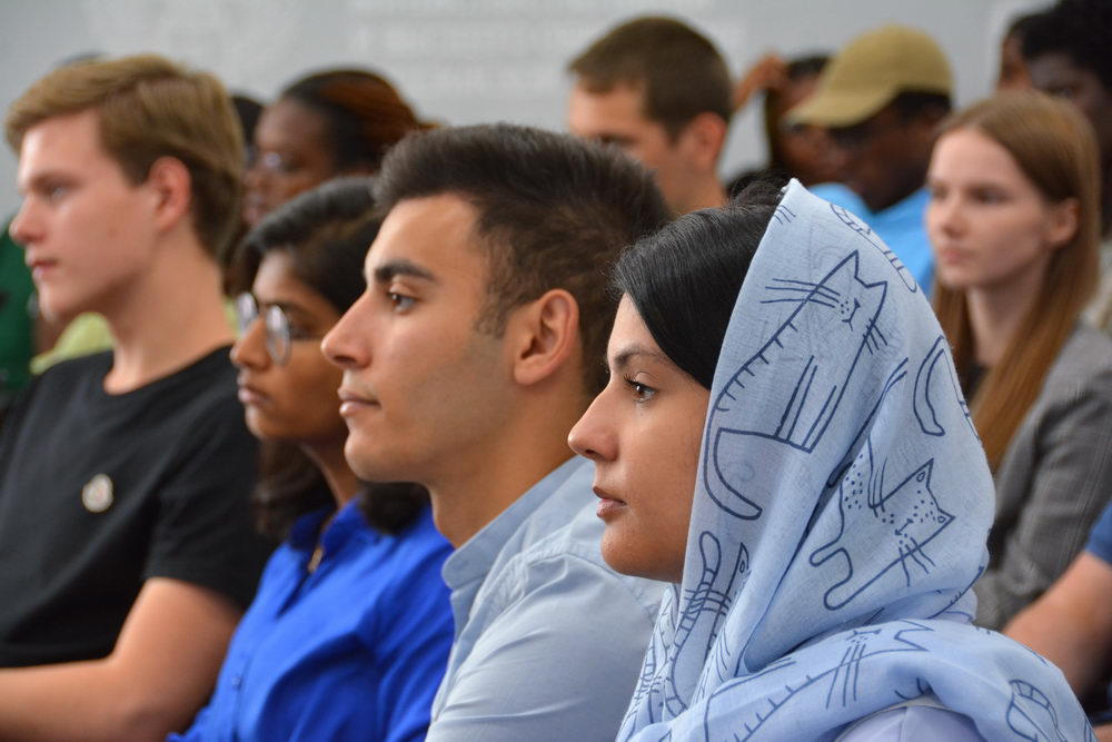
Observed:
[[[729,121],[729,70],[705,36],[674,18],[622,23],[572,60],[568,71],[593,92],[644,87],[645,117],[675,138],[699,113]]]

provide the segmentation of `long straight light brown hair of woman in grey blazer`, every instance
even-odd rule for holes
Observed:
[[[971,400],[973,422],[995,468],[1096,287],[1100,156],[1089,121],[1039,92],[1003,92],[960,111],[942,129],[975,129],[1006,149],[1048,202],[1074,199],[1078,229],[1055,249],[1027,315]],[[935,281],[934,307],[962,378],[973,365],[965,295]]]

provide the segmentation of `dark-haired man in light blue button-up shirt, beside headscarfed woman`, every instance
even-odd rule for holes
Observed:
[[[612,740],[659,586],[599,552],[567,434],[605,384],[607,268],[667,207],[613,148],[507,125],[407,139],[367,293],[324,342],[360,477],[425,485],[456,637],[428,740]]]

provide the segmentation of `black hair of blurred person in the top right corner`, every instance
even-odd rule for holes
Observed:
[[[1112,39],[1112,2],[1061,0],[1025,22],[1022,53],[1027,61],[1043,55],[1064,55],[1112,91],[1109,39]]]

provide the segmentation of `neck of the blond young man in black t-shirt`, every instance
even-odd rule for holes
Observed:
[[[153,265],[103,308],[115,343],[105,390],[122,394],[188,366],[235,335],[220,269],[183,228],[158,247]]]

